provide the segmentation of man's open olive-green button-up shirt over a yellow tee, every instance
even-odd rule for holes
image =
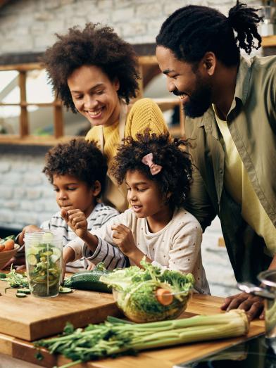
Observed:
[[[205,229],[215,215],[237,281],[254,281],[272,258],[265,242],[242,218],[241,205],[224,186],[225,153],[213,108],[201,118],[186,118],[186,135],[198,170],[187,209]],[[265,212],[276,227],[276,57],[241,58],[227,125]],[[275,239],[276,243],[276,239]]]

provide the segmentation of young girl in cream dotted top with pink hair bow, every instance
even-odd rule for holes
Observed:
[[[201,226],[182,207],[192,181],[192,163],[178,147],[181,144],[185,142],[172,142],[169,134],[157,136],[149,131],[137,134],[137,140],[125,139],[111,171],[118,184],[125,180],[131,208],[90,232],[82,212],[64,211],[66,221],[82,239],[65,247],[65,262],[83,255],[113,269],[119,262],[114,249],[120,248],[120,257],[127,257],[131,265],[141,267],[146,256],[154,265],[192,272],[196,290],[209,292],[201,262]]]

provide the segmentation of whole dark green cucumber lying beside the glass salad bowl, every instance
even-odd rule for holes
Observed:
[[[93,269],[92,271],[82,271],[73,274],[68,279],[65,279],[63,286],[68,288],[77,288],[80,290],[102,291],[103,293],[112,293],[112,288],[108,288],[106,284],[99,281],[100,277],[108,274],[108,271],[99,271]]]

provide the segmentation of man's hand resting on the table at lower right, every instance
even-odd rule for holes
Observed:
[[[253,296],[248,293],[239,293],[226,298],[225,302],[220,307],[220,309],[227,311],[236,308],[245,310],[249,321],[256,317],[260,317],[260,319],[264,318],[263,298],[260,298],[259,296]]]

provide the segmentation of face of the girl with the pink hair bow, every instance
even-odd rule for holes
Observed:
[[[125,184],[127,185],[127,200],[137,217],[158,218],[169,210],[158,184],[141,172],[127,171]]]

